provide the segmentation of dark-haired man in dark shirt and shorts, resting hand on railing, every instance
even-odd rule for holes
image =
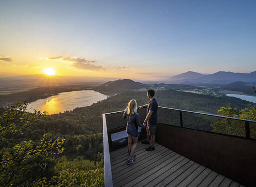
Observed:
[[[157,109],[158,104],[155,99],[155,91],[153,89],[147,90],[147,97],[150,99],[150,102],[148,104],[139,106],[138,108],[144,108],[147,107],[147,116],[144,120],[144,123],[147,124],[147,140],[142,141],[143,144],[149,144],[149,140],[151,137],[151,147],[146,148],[146,151],[153,151],[155,150],[155,133],[156,133],[156,124],[157,124]]]

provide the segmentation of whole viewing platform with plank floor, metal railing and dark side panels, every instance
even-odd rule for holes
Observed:
[[[125,121],[120,120],[123,111],[102,114],[105,187],[256,186],[256,139],[252,134],[255,133],[256,121],[158,108],[156,150],[145,150],[149,145],[140,141],[146,138],[146,131],[139,130],[136,162],[130,165],[126,163]],[[139,112],[143,119],[143,111]],[[244,135],[199,129],[196,125],[199,116],[208,126],[212,118],[234,120],[244,127]]]

